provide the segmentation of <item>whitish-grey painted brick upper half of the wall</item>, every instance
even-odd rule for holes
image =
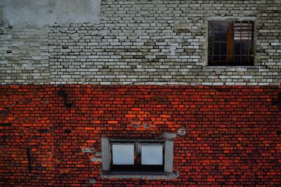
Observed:
[[[280,4],[101,1],[99,23],[1,27],[1,83],[280,85]],[[254,67],[207,66],[214,17],[254,18]]]

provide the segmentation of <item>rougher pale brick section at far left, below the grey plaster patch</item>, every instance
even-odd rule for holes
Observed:
[[[1,83],[49,83],[48,66],[48,30],[46,28],[1,27]]]

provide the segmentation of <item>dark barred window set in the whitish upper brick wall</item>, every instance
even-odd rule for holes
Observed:
[[[254,21],[211,20],[208,30],[208,65],[254,65]]]

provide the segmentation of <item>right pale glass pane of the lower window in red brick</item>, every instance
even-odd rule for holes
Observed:
[[[163,165],[162,144],[141,144],[142,165]]]

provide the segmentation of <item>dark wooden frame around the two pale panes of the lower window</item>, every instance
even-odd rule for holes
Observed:
[[[164,141],[145,141],[145,140],[110,140],[110,170],[111,171],[134,171],[134,172],[164,172]],[[133,165],[113,165],[112,162],[112,145],[113,144],[133,144],[134,145],[134,164]],[[141,144],[161,144],[162,165],[142,165],[141,164]]]

